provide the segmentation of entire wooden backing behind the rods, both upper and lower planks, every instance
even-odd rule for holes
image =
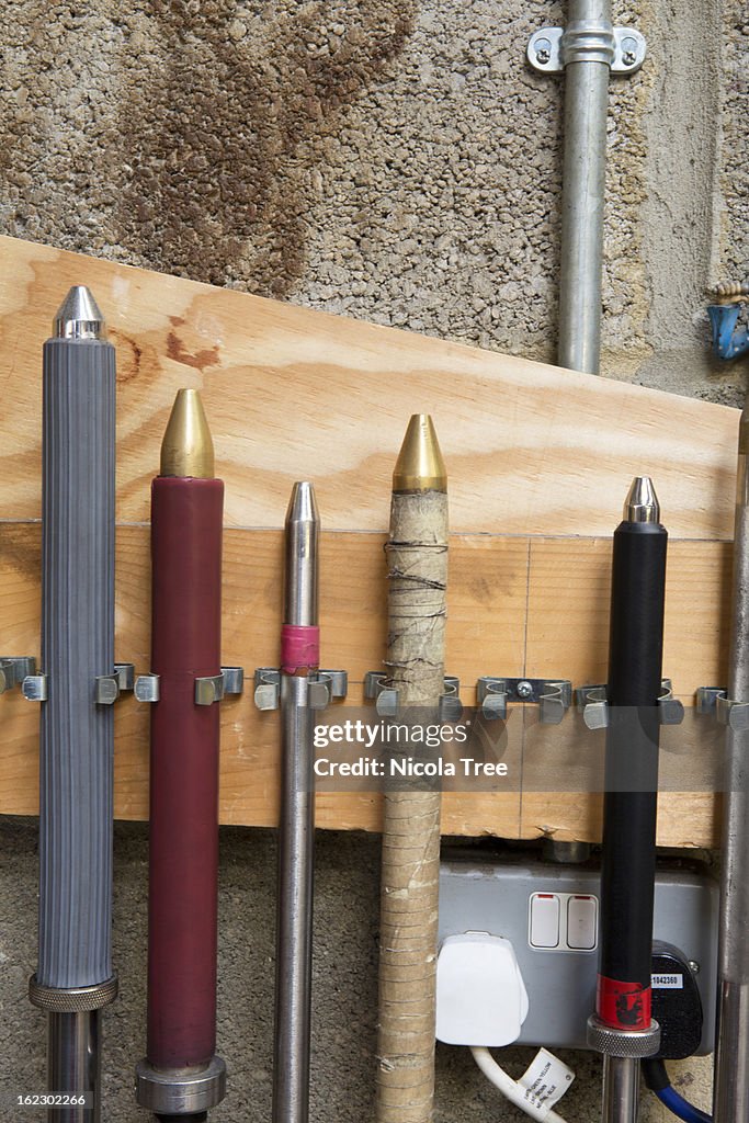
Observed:
[[[738,411],[8,238],[0,263],[0,655],[38,655],[40,348],[84,283],[118,350],[118,659],[148,669],[149,481],[174,394],[195,386],[226,481],[223,661],[249,678],[277,659],[281,527],[293,481],[312,478],[323,660],[349,672],[358,704],[385,650],[390,477],[409,416],[430,412],[455,531],[447,669],[465,702],[486,674],[603,681],[610,536],[643,472],[673,538],[665,673],[686,704],[725,682]],[[252,690],[221,714],[221,820],[271,824],[277,714],[258,713]],[[0,812],[34,813],[38,711],[9,692],[0,721]],[[118,703],[124,819],[147,814],[147,706]],[[659,841],[711,844],[716,797],[695,787],[712,782],[700,766],[715,732],[689,720],[668,736],[691,791],[661,797]],[[579,715],[551,728],[514,713],[503,751],[506,788],[447,793],[446,833],[599,837],[599,795],[569,789],[601,751]],[[321,791],[318,823],[376,830],[380,797]]]

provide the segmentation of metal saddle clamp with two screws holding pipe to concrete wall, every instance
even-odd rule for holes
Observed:
[[[633,74],[645,62],[647,43],[632,27],[583,20],[542,27],[528,43],[528,62],[541,74],[564,74],[569,63],[605,63],[613,74]]]

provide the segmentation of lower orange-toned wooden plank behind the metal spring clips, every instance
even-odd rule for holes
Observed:
[[[325,661],[348,669],[349,705],[360,704],[364,675],[381,666],[385,649],[383,542],[383,536],[373,533],[322,535]],[[230,529],[225,536],[223,658],[250,675],[256,666],[276,661],[281,548],[280,531]],[[575,685],[605,677],[610,553],[610,540],[602,539],[453,536],[447,666],[462,679],[464,701],[474,701],[481,674],[561,674]],[[0,523],[0,620],[9,654],[38,655],[39,562],[38,523]],[[667,669],[686,703],[697,686],[724,682],[720,637],[729,572],[727,544],[670,545]],[[117,657],[135,663],[139,672],[148,669],[148,529],[119,527]],[[248,691],[225,702],[221,718],[221,820],[272,824],[277,813],[277,716],[259,714]],[[34,813],[38,711],[12,692],[0,700],[0,812]],[[147,706],[130,699],[118,703],[119,818],[147,815]],[[706,752],[709,729],[713,739],[719,736],[705,720],[700,727],[689,721],[682,730],[667,731],[675,739],[676,765],[682,754],[691,766],[693,786],[702,775],[697,764]],[[576,714],[559,727],[538,725],[531,711],[513,714],[504,758],[512,765],[506,789],[446,794],[445,832],[597,838],[597,796],[565,788],[574,782],[581,757],[600,755],[600,734],[585,730]],[[673,786],[673,767],[670,776]],[[556,777],[561,791],[555,791]],[[368,792],[322,792],[318,823],[376,830],[380,800]],[[669,794],[663,802],[659,840],[669,846],[712,844],[715,823],[711,795]]]

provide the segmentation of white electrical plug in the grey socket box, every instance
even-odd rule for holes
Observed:
[[[448,935],[437,958],[437,1039],[448,1046],[509,1046],[528,1016],[528,992],[509,940]]]

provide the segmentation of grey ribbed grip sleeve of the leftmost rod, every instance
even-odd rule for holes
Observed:
[[[44,346],[39,967],[48,987],[111,977],[115,349]]]

